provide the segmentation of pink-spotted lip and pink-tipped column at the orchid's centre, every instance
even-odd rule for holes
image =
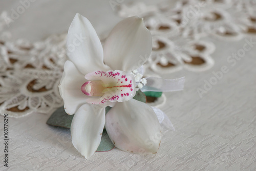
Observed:
[[[89,80],[82,84],[83,94],[98,98],[89,98],[88,103],[102,104],[106,101],[126,101],[134,97],[135,78],[132,74],[119,70],[95,71],[87,74]]]

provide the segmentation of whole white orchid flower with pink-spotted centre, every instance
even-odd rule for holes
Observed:
[[[85,158],[95,153],[104,125],[112,142],[123,151],[157,153],[160,123],[151,106],[133,99],[136,81],[131,74],[143,65],[151,51],[151,33],[142,18],[122,20],[102,48],[89,20],[75,15],[67,36],[69,60],[59,91],[65,111],[75,114],[72,143]],[[108,105],[112,109],[105,115]]]

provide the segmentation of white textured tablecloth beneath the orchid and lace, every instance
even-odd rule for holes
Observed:
[[[128,1],[124,1],[127,3]],[[147,3],[154,3],[153,1]],[[11,13],[18,1],[0,2],[0,12]],[[106,34],[121,20],[108,1],[36,1],[8,28],[12,39],[35,41],[50,34],[63,33],[75,13],[89,18],[97,33]],[[247,39],[250,36],[245,37]],[[23,118],[9,118],[9,167],[1,170],[256,170],[256,46],[235,66],[227,57],[243,48],[240,41],[214,42],[215,66],[195,73],[179,71],[164,78],[186,77],[182,92],[165,93],[161,108],[176,131],[166,132],[156,155],[139,156],[115,148],[84,159],[73,147],[70,131],[46,124],[51,113],[35,113]],[[253,41],[256,41],[253,38]],[[227,66],[229,72],[200,98],[197,88],[204,80]],[[0,117],[3,140],[4,118]]]

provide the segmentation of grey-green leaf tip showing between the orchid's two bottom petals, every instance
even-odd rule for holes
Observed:
[[[96,152],[110,151],[114,147],[115,147],[115,145],[113,144],[113,142],[111,141],[108,133],[106,133],[106,130],[104,129],[103,132],[102,132],[102,137],[101,137],[100,144],[99,144],[98,149],[97,149]]]

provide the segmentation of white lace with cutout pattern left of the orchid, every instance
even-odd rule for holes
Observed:
[[[6,13],[0,16],[1,31]],[[39,42],[8,41],[8,32],[0,36],[0,113],[22,117],[63,105],[58,83],[66,61],[66,34]]]

